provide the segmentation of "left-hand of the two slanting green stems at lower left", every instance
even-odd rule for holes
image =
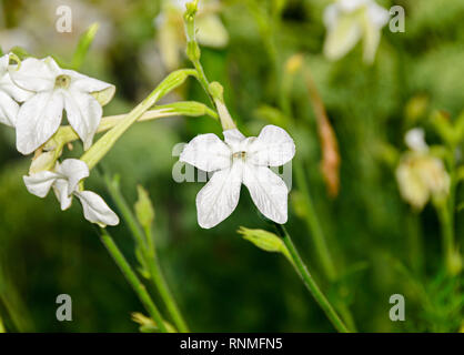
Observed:
[[[124,274],[125,280],[135,291],[147,312],[150,314],[153,321],[157,322],[157,325],[160,328],[160,331],[162,333],[168,333],[161,313],[151,300],[145,286],[140,282],[139,277],[137,277],[135,273],[132,271],[132,267],[129,265],[124,255],[122,255],[118,245],[115,245],[113,239],[110,236],[107,230],[102,230],[101,241],[103,242],[104,246],[113,257],[114,262],[118,264],[121,272]]]

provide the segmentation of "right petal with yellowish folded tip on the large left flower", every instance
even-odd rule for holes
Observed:
[[[94,98],[102,106],[114,97],[115,87],[108,82],[87,77],[73,70],[63,70],[63,73],[71,77],[71,91],[95,94]]]

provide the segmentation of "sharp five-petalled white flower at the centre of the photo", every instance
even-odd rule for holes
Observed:
[[[280,166],[293,159],[292,138],[279,126],[266,125],[258,138],[245,138],[233,129],[224,131],[224,139],[212,133],[198,135],[180,156],[180,161],[198,169],[214,171],[196,195],[200,226],[211,229],[235,210],[242,183],[264,216],[285,223],[289,189],[268,166]]]

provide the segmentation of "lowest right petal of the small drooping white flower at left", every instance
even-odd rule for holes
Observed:
[[[85,220],[97,223],[100,226],[119,224],[118,215],[98,194],[91,191],[74,192],[82,203]]]

